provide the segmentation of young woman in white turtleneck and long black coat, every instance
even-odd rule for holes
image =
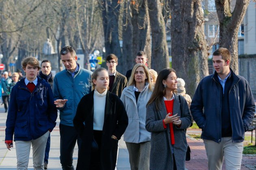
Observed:
[[[118,140],[128,125],[124,104],[108,91],[108,72],[97,68],[92,90],[79,102],[73,123],[82,138],[76,170],[114,170]],[[98,149],[95,149],[95,141]],[[93,144],[92,144],[93,143]]]

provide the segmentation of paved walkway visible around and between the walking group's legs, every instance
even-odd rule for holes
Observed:
[[[4,113],[4,108],[0,105],[0,170],[16,170],[16,152],[15,144],[11,151],[7,150],[4,144],[5,135],[5,121],[7,113]],[[187,134],[196,133],[194,131],[188,130]],[[200,133],[200,131],[197,133]],[[204,143],[202,140],[196,140],[191,137],[187,137],[188,144],[191,148],[191,160],[186,161],[186,168],[188,170],[207,170],[207,156],[204,149]],[[60,136],[59,136],[59,118],[57,119],[57,126],[51,133],[51,149],[49,155],[48,170],[61,170],[61,164],[59,160],[60,150],[59,150]],[[77,157],[78,157],[78,147],[76,145],[74,149],[74,167],[76,167]],[[256,155],[249,156],[243,155],[241,170],[256,170]],[[28,164],[28,170],[33,170],[33,159],[32,159],[32,149],[30,150],[30,159]],[[117,170],[130,170],[129,155],[126,148],[126,144],[121,138],[119,141],[119,155],[117,161]],[[225,170],[225,166],[223,166]]]

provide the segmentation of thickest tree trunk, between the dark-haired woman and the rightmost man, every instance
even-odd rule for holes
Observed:
[[[201,2],[171,0],[172,67],[177,77],[186,82],[191,97],[200,80],[209,74]]]

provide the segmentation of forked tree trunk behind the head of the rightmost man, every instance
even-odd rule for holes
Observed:
[[[219,47],[227,48],[232,56],[230,67],[238,74],[238,30],[250,0],[236,0],[231,13],[229,0],[215,0],[219,19]]]

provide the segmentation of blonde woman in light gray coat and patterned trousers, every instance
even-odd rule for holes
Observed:
[[[131,170],[149,170],[150,132],[145,129],[146,104],[152,95],[152,84],[148,68],[136,64],[121,94],[126,107],[128,127],[124,132],[124,141],[129,152]]]

